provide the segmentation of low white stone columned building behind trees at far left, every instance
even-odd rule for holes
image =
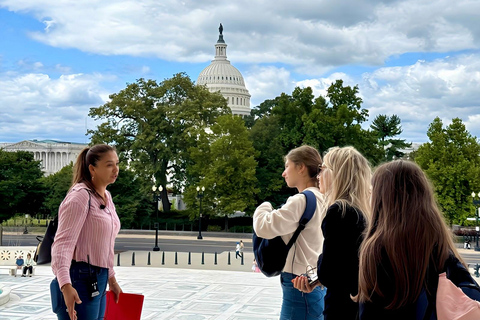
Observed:
[[[0,143],[5,151],[29,151],[35,160],[42,162],[42,170],[48,176],[75,162],[86,144],[56,140],[24,140],[17,143]]]

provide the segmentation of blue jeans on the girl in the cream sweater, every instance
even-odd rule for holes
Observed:
[[[283,290],[280,320],[323,320],[323,298],[326,288],[316,287],[311,293],[303,293],[293,287],[297,276],[282,272],[280,282]]]

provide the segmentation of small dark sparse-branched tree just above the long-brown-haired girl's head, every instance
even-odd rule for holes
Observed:
[[[392,160],[393,157],[403,157],[404,153],[400,150],[412,146],[411,143],[407,143],[404,139],[393,139],[393,137],[403,132],[401,120],[395,114],[390,117],[385,114],[379,114],[373,119],[370,128],[377,135],[380,147],[385,150],[386,161]]]

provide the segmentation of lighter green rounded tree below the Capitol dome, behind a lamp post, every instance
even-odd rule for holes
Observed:
[[[192,180],[184,193],[189,207],[196,207],[196,187],[204,186],[203,212],[231,215],[255,203],[255,149],[242,118],[224,115],[210,127],[211,133],[190,148]],[[196,212],[196,211],[194,211]]]

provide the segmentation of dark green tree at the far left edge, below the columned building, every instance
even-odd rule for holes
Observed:
[[[45,192],[40,168],[31,152],[0,150],[0,223],[16,213],[39,212]]]

